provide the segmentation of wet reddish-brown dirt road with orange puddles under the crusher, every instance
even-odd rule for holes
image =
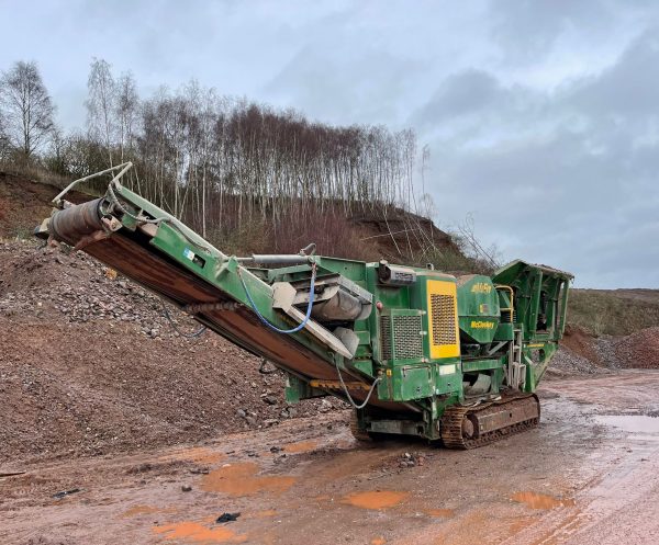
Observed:
[[[132,456],[7,463],[26,473],[0,478],[0,543],[655,544],[657,391],[652,371],[546,382],[539,429],[470,452],[358,444],[333,412]]]

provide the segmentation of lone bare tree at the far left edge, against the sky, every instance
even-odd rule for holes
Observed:
[[[36,63],[15,63],[0,79],[0,107],[5,138],[25,159],[40,149],[53,129],[55,106]]]

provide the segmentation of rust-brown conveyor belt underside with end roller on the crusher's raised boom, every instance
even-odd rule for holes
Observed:
[[[51,223],[52,236],[77,246],[180,307],[233,300],[226,293],[149,245],[148,238],[139,232],[131,232],[125,228],[114,232],[103,229],[102,219],[93,214],[97,208],[97,202],[92,201],[57,212]],[[194,318],[248,352],[266,357],[280,368],[308,381],[337,378],[334,365],[297,342],[293,337],[264,327],[247,306],[203,310],[196,314]],[[350,390],[350,395],[355,400],[365,398],[361,388]],[[380,401],[377,395],[372,396],[371,404],[401,410],[399,404]]]

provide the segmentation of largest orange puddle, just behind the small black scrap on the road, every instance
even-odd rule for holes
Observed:
[[[201,489],[231,496],[252,496],[261,491],[281,493],[295,482],[295,477],[257,475],[258,469],[259,467],[252,462],[227,464],[204,475]]]

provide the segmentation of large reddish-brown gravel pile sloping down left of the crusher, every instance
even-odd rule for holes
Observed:
[[[185,332],[199,323],[171,309]],[[0,461],[199,441],[344,409],[289,406],[284,375],[92,258],[0,242]]]

